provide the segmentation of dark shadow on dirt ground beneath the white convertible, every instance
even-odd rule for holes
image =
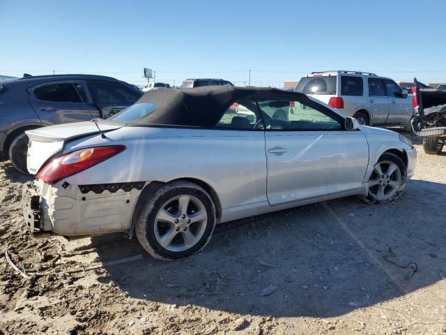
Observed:
[[[446,276],[446,185],[410,181],[394,204],[357,198],[222,225],[205,250],[178,262],[154,260],[137,239],[92,239],[131,297],[277,317],[328,317],[406,295]],[[429,210],[426,210],[429,209]],[[234,228],[238,223],[237,228]]]

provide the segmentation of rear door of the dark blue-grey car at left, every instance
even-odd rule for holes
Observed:
[[[52,81],[29,89],[29,104],[45,124],[66,124],[100,117],[84,80]]]

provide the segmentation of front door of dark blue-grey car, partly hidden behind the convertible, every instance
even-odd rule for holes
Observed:
[[[117,82],[87,80],[93,101],[107,119],[121,110],[133,105],[141,97],[136,91]]]

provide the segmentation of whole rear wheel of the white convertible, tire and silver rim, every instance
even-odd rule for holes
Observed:
[[[215,223],[210,195],[196,184],[174,181],[147,196],[135,232],[141,246],[154,258],[178,260],[201,251]]]

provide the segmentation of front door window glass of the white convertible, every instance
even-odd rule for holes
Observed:
[[[330,116],[323,108],[316,109],[299,101],[280,98],[259,101],[267,130],[321,131],[341,130],[338,119]]]

